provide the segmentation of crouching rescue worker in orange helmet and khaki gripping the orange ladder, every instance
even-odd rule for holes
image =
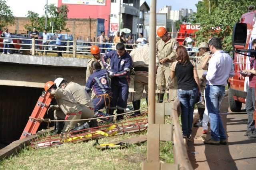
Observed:
[[[57,105],[51,105],[54,109],[55,120],[78,120],[81,119],[82,109],[75,98],[65,89],[57,88],[53,81],[46,82],[44,90],[50,90],[50,94],[56,99]],[[77,124],[77,121],[56,122],[54,134],[70,132]]]

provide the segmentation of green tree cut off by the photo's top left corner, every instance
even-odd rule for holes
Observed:
[[[6,4],[6,0],[0,0],[0,29],[14,23],[14,16],[10,6]]]

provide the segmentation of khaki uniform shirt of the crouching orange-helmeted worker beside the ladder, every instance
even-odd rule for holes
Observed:
[[[82,111],[75,98],[67,90],[58,88],[52,90],[52,96],[55,97],[59,108],[64,112],[64,114],[77,113]]]

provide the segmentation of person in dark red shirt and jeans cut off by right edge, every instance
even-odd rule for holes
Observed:
[[[252,40],[252,48],[256,49],[256,39]],[[252,55],[252,53],[251,53]],[[250,57],[250,70],[244,72],[251,73],[249,76],[249,85],[246,93],[246,112],[248,116],[247,128],[244,136],[248,138],[256,138],[255,121],[253,119],[253,112],[255,110],[255,84],[256,84],[256,60],[255,57]]]

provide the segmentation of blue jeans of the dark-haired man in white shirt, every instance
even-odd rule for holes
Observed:
[[[225,96],[225,86],[207,85],[205,89],[206,107],[211,120],[212,140],[226,139],[225,130],[220,117],[220,103]]]

